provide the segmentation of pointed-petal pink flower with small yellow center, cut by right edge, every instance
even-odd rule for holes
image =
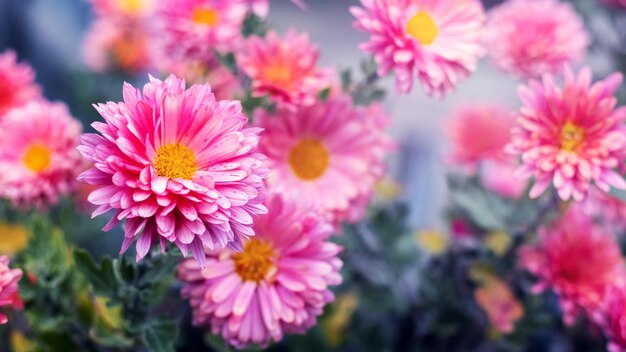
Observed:
[[[582,200],[593,182],[608,192],[610,186],[625,189],[615,172],[623,159],[626,132],[621,128],[626,108],[615,109],[615,90],[622,76],[615,73],[591,85],[591,70],[576,77],[565,70],[564,87],[552,75],[542,82],[520,87],[523,103],[508,146],[522,157],[518,175],[536,178],[530,197],[554,184],[563,200]]]

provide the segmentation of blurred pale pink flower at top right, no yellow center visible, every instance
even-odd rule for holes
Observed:
[[[505,72],[537,78],[580,61],[589,36],[572,6],[559,0],[509,0],[488,15],[485,43]]]

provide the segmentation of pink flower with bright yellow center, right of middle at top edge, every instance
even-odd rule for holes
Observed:
[[[361,49],[374,54],[378,73],[395,71],[409,92],[416,75],[429,95],[443,96],[476,69],[485,13],[478,0],[361,0],[354,27],[370,34]]]

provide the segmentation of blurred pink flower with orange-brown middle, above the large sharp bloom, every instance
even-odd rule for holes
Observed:
[[[101,17],[83,43],[85,64],[95,72],[119,69],[138,73],[151,67],[150,34],[139,21]]]

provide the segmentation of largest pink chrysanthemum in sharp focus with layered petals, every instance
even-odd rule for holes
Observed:
[[[115,210],[104,228],[126,219],[124,252],[137,238],[137,259],[158,241],[174,242],[204,266],[203,246],[235,250],[253,236],[266,170],[256,152],[260,129],[244,129],[238,101],[216,101],[209,85],[150,78],[143,95],[124,85],[124,102],[96,106],[105,123],[79,147],[94,164],[80,180],[98,189],[93,216]],[[143,229],[143,231],[142,231]],[[141,233],[141,234],[139,234]]]

